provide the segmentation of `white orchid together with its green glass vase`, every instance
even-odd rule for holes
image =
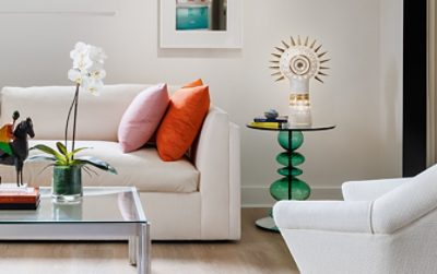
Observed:
[[[75,93],[67,116],[64,144],[61,142],[56,143],[58,152],[47,145],[35,145],[32,148],[39,150],[48,155],[43,154],[29,157],[31,160],[43,159],[52,162],[52,164],[49,165],[54,166],[51,194],[56,202],[78,202],[81,200],[82,169],[90,172],[88,165],[117,174],[116,169],[108,163],[95,157],[75,157],[76,153],[90,147],[74,147],[79,91],[84,90],[94,95],[98,94],[98,91],[103,87],[102,80],[106,75],[106,72],[103,69],[106,55],[101,48],[84,43],[78,43],[74,49],[70,52],[70,57],[73,59],[73,68],[69,70],[68,78],[75,83]],[[71,111],[73,109],[73,136],[71,150],[69,151],[67,148],[68,129]]]

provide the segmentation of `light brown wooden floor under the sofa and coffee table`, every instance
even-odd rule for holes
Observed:
[[[265,210],[243,210],[240,241],[153,242],[152,273],[298,273],[279,234],[255,227]],[[0,273],[137,273],[126,242],[0,242]]]

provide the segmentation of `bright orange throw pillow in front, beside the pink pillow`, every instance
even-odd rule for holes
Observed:
[[[156,147],[165,162],[180,159],[191,146],[210,109],[209,86],[201,80],[185,85],[170,103],[156,134]]]

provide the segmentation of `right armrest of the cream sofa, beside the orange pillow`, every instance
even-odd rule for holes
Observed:
[[[228,115],[211,107],[193,150],[200,171],[202,237],[239,239],[240,176],[239,129]]]

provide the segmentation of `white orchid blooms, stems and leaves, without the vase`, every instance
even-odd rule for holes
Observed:
[[[54,162],[54,166],[81,166],[86,167],[91,165],[99,169],[117,174],[116,169],[108,163],[90,157],[81,156],[74,157],[78,152],[86,150],[88,147],[74,148],[75,142],[75,124],[78,117],[78,103],[79,103],[79,91],[84,90],[93,95],[98,95],[98,92],[103,88],[103,79],[106,76],[106,71],[103,69],[105,59],[107,58],[102,48],[94,47],[92,45],[79,41],[75,44],[74,49],[70,52],[70,58],[73,59],[73,68],[69,70],[68,78],[75,83],[75,93],[73,102],[71,103],[66,123],[64,132],[64,144],[57,142],[56,146],[58,152],[54,148],[38,144],[31,150],[39,150],[48,155],[34,155],[28,159],[44,159]],[[74,108],[73,114],[73,136],[71,142],[71,151],[68,151],[68,132],[71,111]],[[85,169],[86,170],[86,169]]]

